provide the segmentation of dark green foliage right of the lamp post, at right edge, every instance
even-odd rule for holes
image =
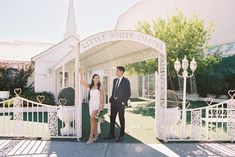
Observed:
[[[198,93],[226,95],[228,90],[235,89],[235,56],[223,58],[217,62],[209,60],[208,65],[196,75]]]

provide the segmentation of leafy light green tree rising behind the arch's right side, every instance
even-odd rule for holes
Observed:
[[[152,23],[141,21],[136,25],[136,30],[152,35],[166,43],[168,62],[168,82],[170,88],[175,89],[172,78],[176,78],[174,61],[182,60],[186,55],[189,60],[194,57],[198,63],[198,69],[203,68],[207,58],[203,52],[208,48],[208,41],[213,32],[213,24],[207,27],[202,19],[197,16],[186,18],[178,11],[171,18],[165,20],[158,18]],[[153,73],[156,70],[156,61],[144,61],[128,65],[127,69],[138,74]]]

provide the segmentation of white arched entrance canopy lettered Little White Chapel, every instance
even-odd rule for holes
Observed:
[[[155,129],[158,139],[165,139],[164,111],[167,102],[167,53],[165,43],[153,36],[136,31],[107,31],[98,33],[82,40],[75,56],[76,72],[78,68],[95,70],[108,69],[118,65],[126,65],[139,61],[158,58],[158,74],[156,77]],[[75,73],[75,76],[78,74]],[[110,75],[109,75],[110,76]],[[79,106],[81,118],[81,92],[79,78],[75,78],[76,102]],[[109,81],[111,87],[111,81]],[[109,88],[110,93],[110,88]],[[81,135],[82,124],[78,124]]]

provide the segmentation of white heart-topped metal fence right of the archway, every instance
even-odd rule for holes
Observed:
[[[235,90],[232,90],[234,93]],[[186,109],[186,127],[182,127],[182,110],[167,115],[165,131],[167,141],[234,141],[235,140],[235,94],[230,99],[208,106]],[[168,111],[169,112],[169,111]],[[185,129],[185,130],[183,130]],[[183,132],[186,135],[183,136]]]

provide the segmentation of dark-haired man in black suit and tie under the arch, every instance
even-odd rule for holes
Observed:
[[[124,140],[125,134],[125,106],[131,96],[130,82],[126,79],[123,74],[125,68],[118,66],[116,70],[117,78],[113,80],[112,96],[109,99],[111,103],[111,116],[110,116],[110,130],[108,139],[115,138],[115,121],[118,113],[119,121],[121,125],[119,137],[116,139],[117,142]]]

